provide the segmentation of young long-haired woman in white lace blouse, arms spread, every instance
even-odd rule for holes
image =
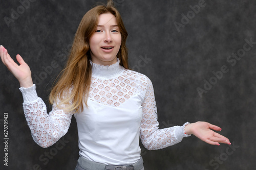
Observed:
[[[219,145],[229,140],[206,122],[158,129],[150,79],[130,70],[127,32],[113,2],[96,6],[82,18],[66,68],[53,87],[47,114],[38,98],[31,71],[20,55],[17,65],[1,45],[2,62],[20,83],[24,112],[34,141],[49,147],[65,135],[74,114],[79,136],[76,169],[144,169],[139,138],[148,150],[176,144],[194,134]],[[212,129],[212,130],[211,130]]]

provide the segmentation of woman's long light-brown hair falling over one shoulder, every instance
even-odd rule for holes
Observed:
[[[49,96],[50,103],[55,102],[60,109],[77,112],[83,110],[83,104],[88,106],[87,99],[92,78],[89,40],[97,28],[99,15],[104,13],[111,13],[116,17],[121,33],[121,46],[117,58],[121,66],[129,69],[125,45],[128,34],[113,1],[108,0],[106,5],[98,5],[89,10],[78,26],[67,64]]]

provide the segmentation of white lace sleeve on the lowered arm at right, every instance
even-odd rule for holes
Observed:
[[[152,82],[147,80],[147,89],[142,103],[143,116],[140,124],[140,138],[144,147],[148,150],[166,148],[179,143],[183,137],[190,136],[184,133],[183,126],[174,126],[159,129],[157,122],[157,107]]]

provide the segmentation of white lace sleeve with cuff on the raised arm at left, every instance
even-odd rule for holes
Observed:
[[[46,105],[38,98],[35,85],[19,89],[23,94],[23,109],[34,141],[40,147],[50,147],[68,132],[73,114],[58,109],[56,104],[47,114]]]

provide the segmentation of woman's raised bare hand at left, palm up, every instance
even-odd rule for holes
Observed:
[[[22,56],[17,55],[16,59],[20,65],[15,63],[4,46],[0,46],[0,57],[2,62],[11,71],[15,78],[19,81],[20,87],[31,87],[33,85],[31,71]]]

